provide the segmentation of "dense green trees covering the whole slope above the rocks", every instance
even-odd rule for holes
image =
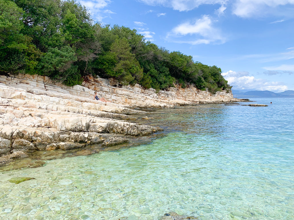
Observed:
[[[159,48],[135,29],[94,23],[84,6],[70,0],[0,0],[0,73],[8,72],[69,86],[92,74],[156,90],[174,82],[211,92],[230,88],[220,68]]]

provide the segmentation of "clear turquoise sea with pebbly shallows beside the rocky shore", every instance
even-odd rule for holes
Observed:
[[[294,99],[252,100],[273,104],[158,111],[166,136],[148,144],[4,172],[0,219],[292,220]]]

